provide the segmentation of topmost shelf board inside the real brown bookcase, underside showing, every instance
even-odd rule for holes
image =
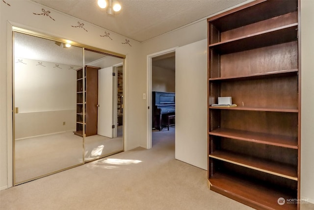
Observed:
[[[209,45],[209,49],[222,54],[236,53],[297,40],[298,24],[241,36]]]

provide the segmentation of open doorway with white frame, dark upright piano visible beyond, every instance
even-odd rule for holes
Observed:
[[[173,136],[175,135],[175,108],[167,114],[158,113],[156,117],[154,109],[156,110],[157,107],[156,101],[153,99],[155,93],[158,92],[162,94],[159,98],[167,98],[166,101],[162,101],[164,102],[163,105],[171,102],[175,107],[175,48],[148,55],[147,71],[147,149],[150,149],[153,146],[153,132],[159,132],[157,135],[162,135],[165,132],[168,132],[167,134],[169,135],[172,132]],[[173,98],[170,101],[168,101],[169,95]],[[161,110],[159,111],[161,112]],[[170,119],[172,126],[167,126],[169,115],[173,116]],[[156,119],[158,118],[160,119],[157,120],[159,121],[159,124],[157,122],[159,126],[156,126]]]

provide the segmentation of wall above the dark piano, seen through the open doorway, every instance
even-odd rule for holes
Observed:
[[[152,91],[176,92],[176,71],[152,66]]]

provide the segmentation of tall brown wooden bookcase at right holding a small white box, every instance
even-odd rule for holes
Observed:
[[[299,4],[257,0],[208,19],[209,187],[255,209],[300,209],[278,202],[300,199]],[[211,106],[223,96],[237,106]]]

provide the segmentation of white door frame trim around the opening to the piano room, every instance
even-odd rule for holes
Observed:
[[[157,53],[147,55],[147,90],[146,90],[146,128],[147,128],[147,140],[146,140],[146,149],[152,148],[152,70],[153,70],[153,58],[162,56],[165,54],[176,52],[176,48],[170,48],[167,50],[159,51]]]

